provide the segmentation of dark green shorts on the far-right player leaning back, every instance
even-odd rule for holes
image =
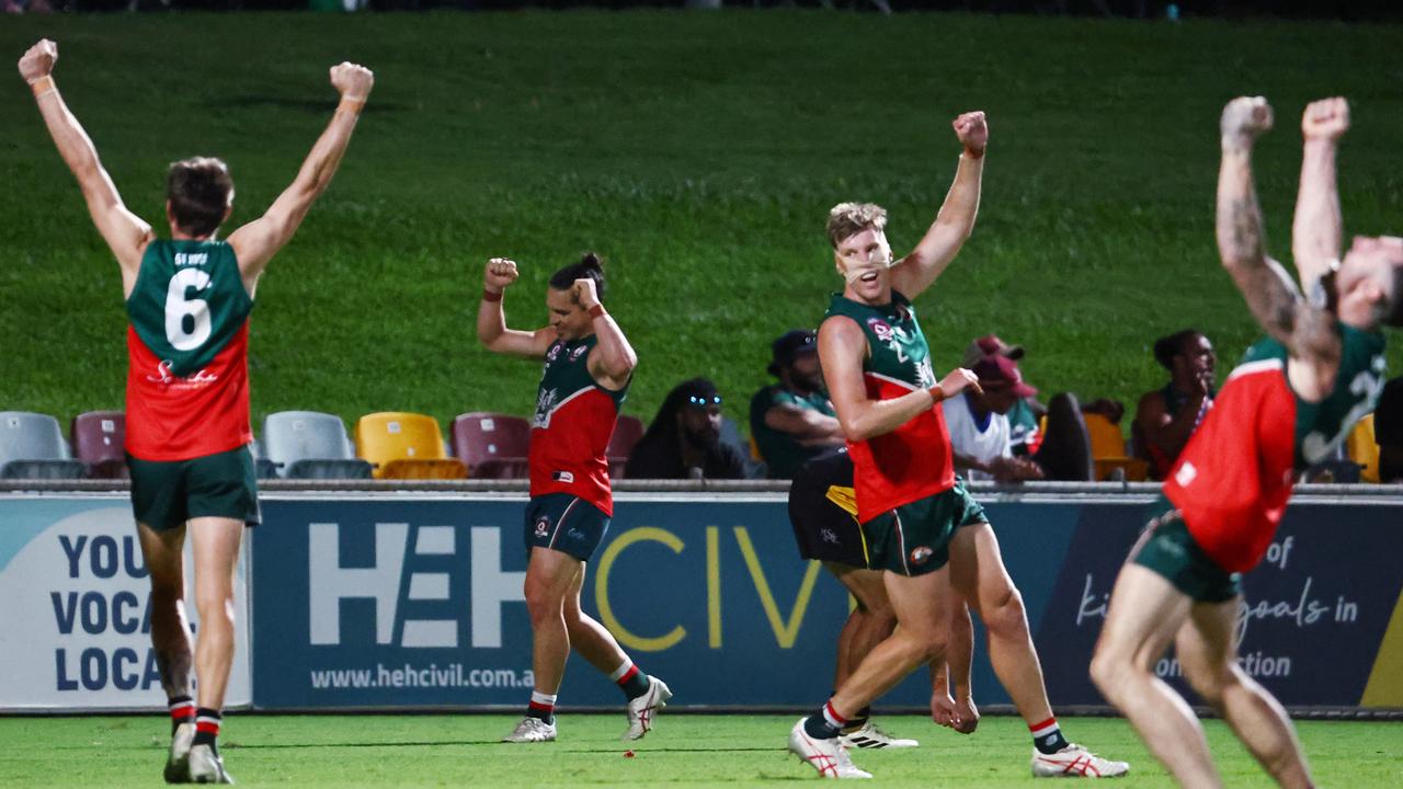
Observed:
[[[1226,602],[1242,594],[1242,573],[1229,573],[1204,553],[1174,504],[1159,497],[1131,562],[1163,576],[1195,602]]]

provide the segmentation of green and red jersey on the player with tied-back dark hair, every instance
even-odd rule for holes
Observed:
[[[598,343],[591,334],[557,340],[546,351],[530,431],[530,494],[568,493],[613,515],[605,451],[629,386],[610,392],[589,375],[589,351]]]

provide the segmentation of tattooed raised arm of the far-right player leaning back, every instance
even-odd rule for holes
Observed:
[[[1291,275],[1267,257],[1261,208],[1251,181],[1251,146],[1271,128],[1261,97],[1235,98],[1222,115],[1222,167],[1218,171],[1218,254],[1253,317],[1291,354],[1287,375],[1301,397],[1319,402],[1334,386],[1340,336],[1334,316],[1310,307]]]

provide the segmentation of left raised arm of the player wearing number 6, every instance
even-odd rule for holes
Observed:
[[[102,168],[97,157],[97,149],[79,119],[63,104],[59,88],[53,81],[53,65],[59,59],[59,45],[43,39],[29,48],[20,58],[20,76],[29,83],[34,100],[43,115],[43,124],[53,138],[53,145],[59,149],[59,156],[69,166],[83,190],[83,199],[87,201],[88,215],[93,225],[102,234],[102,240],[116,256],[116,263],[122,267],[122,292],[130,293],[136,285],[136,272],[142,265],[142,253],[154,236],[152,226],[142,222],[139,216],[126,209],[122,195],[116,192],[116,185]]]

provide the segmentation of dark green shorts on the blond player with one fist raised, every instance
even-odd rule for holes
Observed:
[[[955,529],[988,522],[964,480],[955,479],[950,490],[902,504],[863,524],[868,566],[902,576],[934,573],[950,562]]]

